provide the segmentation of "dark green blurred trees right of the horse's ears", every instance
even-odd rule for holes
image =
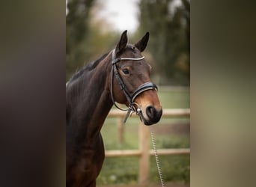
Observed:
[[[141,0],[139,33],[150,31],[148,49],[153,55],[159,84],[189,85],[190,2]]]

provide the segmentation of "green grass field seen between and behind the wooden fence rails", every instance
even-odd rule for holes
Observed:
[[[163,108],[189,108],[189,89],[159,89],[159,99]],[[130,117],[127,120],[124,133],[124,142],[118,141],[117,119],[107,118],[103,125],[102,135],[106,150],[138,149],[138,117]],[[188,118],[162,118],[153,126],[156,138],[156,147],[161,148],[189,148],[189,132],[177,133],[173,130],[177,127],[187,128]],[[150,148],[152,144],[149,139]],[[189,183],[190,157],[159,156],[162,174],[165,182]],[[138,157],[106,158],[97,185],[111,184],[136,184],[138,183]],[[150,157],[150,183],[159,183],[159,175],[154,156]]]

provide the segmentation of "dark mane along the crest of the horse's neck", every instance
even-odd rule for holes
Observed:
[[[78,79],[80,76],[82,76],[85,72],[90,72],[91,70],[94,70],[98,64],[100,64],[101,61],[103,61],[104,58],[109,54],[109,52],[106,52],[104,55],[102,55],[100,58],[98,58],[96,61],[91,61],[90,63],[86,64],[84,67],[82,67],[81,70],[76,71],[75,74],[70,78],[69,82],[73,82],[76,79]]]

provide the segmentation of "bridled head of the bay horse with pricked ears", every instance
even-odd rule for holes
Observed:
[[[162,106],[157,96],[157,87],[150,80],[151,67],[141,52],[147,46],[147,32],[135,44],[127,43],[127,31],[112,51],[112,99],[135,111],[145,125],[157,123],[162,116]]]

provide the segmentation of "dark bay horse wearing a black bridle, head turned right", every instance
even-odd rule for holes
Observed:
[[[150,65],[141,52],[149,33],[127,44],[127,31],[115,49],[83,67],[66,84],[66,186],[96,186],[105,158],[100,129],[115,102],[128,106],[145,125],[157,123],[162,107]],[[115,104],[116,105],[116,104]]]

